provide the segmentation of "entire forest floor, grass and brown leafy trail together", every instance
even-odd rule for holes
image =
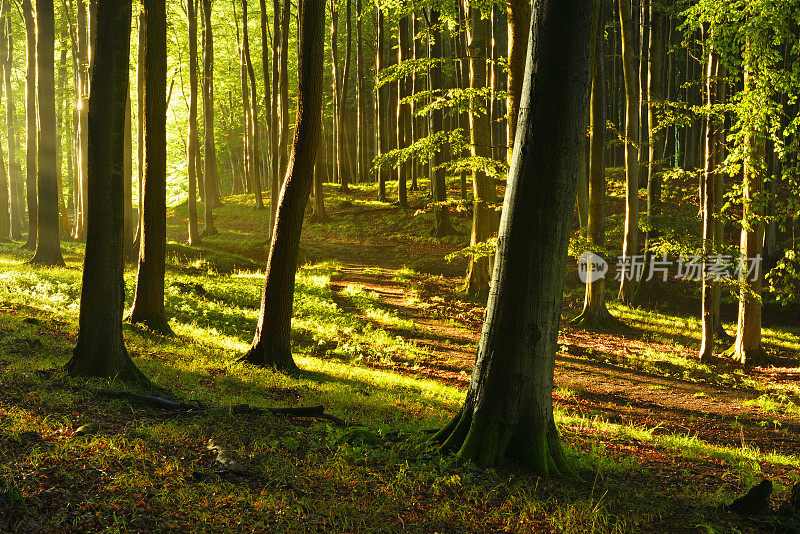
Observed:
[[[125,337],[169,392],[149,393],[324,404],[364,433],[233,410],[175,417],[102,397],[121,386],[57,370],[77,334],[81,245],[64,245],[66,269],[34,270],[18,245],[0,244],[0,532],[800,532],[791,518],[718,509],[762,477],[777,508],[800,481],[796,324],[765,325],[767,367],[701,365],[692,288],[670,288],[674,305],[659,311],[612,303],[629,328],[586,332],[568,324],[582,298],[573,269],[554,401],[580,478],[458,465],[428,436],[463,401],[485,312],[460,290],[463,261],[443,260],[466,245],[469,214],[453,217],[461,235],[433,239],[430,214],[374,202],[370,186],[329,193],[332,220],[306,224],[301,245],[301,375],[235,362],[267,244],[266,212],[245,197],[225,200],[221,235],[199,248],[181,244],[185,207],[170,211],[176,337],[130,325]],[[99,426],[77,436],[86,423]],[[221,469],[209,439],[247,476]]]

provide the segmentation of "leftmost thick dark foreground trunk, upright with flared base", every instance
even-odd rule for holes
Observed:
[[[146,381],[125,349],[122,313],[123,154],[128,101],[130,2],[102,2],[89,103],[89,214],[78,320],[78,344],[66,370],[73,376]]]

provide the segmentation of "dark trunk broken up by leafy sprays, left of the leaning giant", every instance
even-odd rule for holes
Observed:
[[[430,9],[428,13],[428,20],[431,28],[438,28],[439,25],[439,11]],[[431,58],[440,59],[443,57],[442,42],[444,41],[444,32],[441,30],[436,31],[432,40],[429,40]],[[442,81],[442,68],[440,63],[431,64],[428,73],[428,91],[434,91],[438,88],[446,89]],[[433,109],[428,114],[428,121],[430,124],[429,130],[431,132],[441,132],[444,130],[443,111],[441,109]],[[433,176],[431,176],[431,189],[433,191],[433,202],[436,207],[433,211],[433,229],[431,235],[434,237],[444,237],[456,233],[456,229],[450,223],[450,211],[444,202],[447,201],[447,181],[445,179],[445,170],[442,167],[444,163],[444,155],[441,151],[433,156]]]

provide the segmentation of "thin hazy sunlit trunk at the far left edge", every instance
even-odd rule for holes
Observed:
[[[10,5],[10,4],[7,4]],[[6,133],[8,135],[8,182],[11,191],[11,239],[22,239],[22,184],[20,183],[20,169],[17,163],[17,129],[15,121],[14,91],[11,87],[11,70],[14,65],[14,37],[11,26],[11,17],[7,19],[8,26],[3,22],[3,41],[5,54],[0,56],[3,62],[3,86],[6,96]]]

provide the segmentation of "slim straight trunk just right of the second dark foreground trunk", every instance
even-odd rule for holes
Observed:
[[[187,171],[189,174],[189,246],[200,244],[197,228],[197,9],[195,0],[186,0],[189,30],[189,132],[186,141]]]

